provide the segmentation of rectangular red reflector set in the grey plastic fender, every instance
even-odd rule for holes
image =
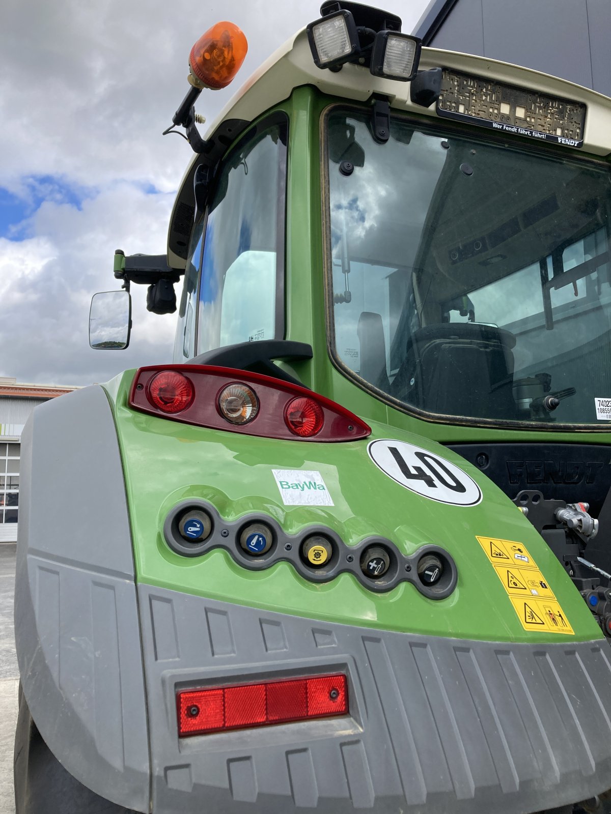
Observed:
[[[268,681],[238,687],[186,690],[177,695],[178,734],[341,716],[348,712],[345,676]]]

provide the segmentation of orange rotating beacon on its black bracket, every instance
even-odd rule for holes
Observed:
[[[189,55],[187,79],[191,89],[174,113],[172,125],[164,130],[163,135],[182,135],[174,128],[184,127],[187,134],[183,138],[187,139],[196,153],[204,152],[206,142],[196,127],[198,117],[193,106],[202,90],[222,90],[233,81],[247,51],[246,37],[235,23],[217,23],[202,34]]]

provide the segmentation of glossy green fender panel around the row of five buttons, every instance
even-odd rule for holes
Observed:
[[[480,485],[479,505],[431,501],[385,475],[367,453],[369,440],[339,444],[271,440],[232,431],[192,427],[155,418],[127,405],[134,371],[109,383],[130,506],[138,582],[226,602],[323,621],[487,641],[571,641],[526,632],[476,535],[520,542],[529,549],[574,628],[575,638],[600,637],[587,606],[560,562],[507,497],[474,466],[423,436],[371,422],[371,439],[394,438],[455,462]],[[272,469],[316,470],[333,506],[285,506]],[[445,600],[423,597],[404,583],[372,593],[344,574],[327,584],[302,579],[287,562],[248,571],[222,550],[184,558],[165,544],[163,524],[178,501],[211,501],[222,518],[257,512],[289,534],[324,525],[348,545],[385,537],[406,554],[421,545],[442,546],[455,559],[459,583]]]

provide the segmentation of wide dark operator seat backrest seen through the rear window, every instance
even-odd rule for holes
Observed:
[[[508,330],[477,322],[427,325],[407,341],[391,395],[428,413],[516,418]]]

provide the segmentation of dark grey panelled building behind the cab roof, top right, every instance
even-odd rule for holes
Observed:
[[[431,0],[414,33],[611,96],[610,11],[609,0]]]

